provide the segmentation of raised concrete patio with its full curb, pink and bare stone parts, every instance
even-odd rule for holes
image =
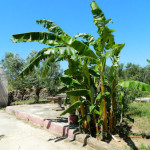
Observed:
[[[75,126],[68,124],[68,115],[59,117],[62,110],[57,104],[33,104],[6,107],[6,112],[15,115],[19,119],[69,139],[74,139],[84,145],[89,145],[96,150],[117,150],[111,144],[96,140],[85,134],[73,134]]]

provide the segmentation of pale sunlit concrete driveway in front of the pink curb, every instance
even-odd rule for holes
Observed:
[[[35,128],[0,110],[0,150],[93,150],[44,129]]]

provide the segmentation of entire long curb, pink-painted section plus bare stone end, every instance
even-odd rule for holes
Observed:
[[[33,124],[36,124],[39,127],[42,126],[54,134],[67,137],[70,140],[76,140],[78,142],[81,142],[83,143],[83,146],[89,145],[91,148],[94,148],[96,150],[118,150],[116,147],[113,147],[112,145],[109,145],[103,141],[90,137],[89,135],[81,134],[81,133],[74,134],[73,129],[69,129],[68,127],[62,126],[55,122],[51,122],[50,120],[45,120],[35,115],[30,115],[25,112],[20,112],[18,110],[11,108],[11,106],[6,107],[6,112],[15,115],[16,118],[27,120]]]

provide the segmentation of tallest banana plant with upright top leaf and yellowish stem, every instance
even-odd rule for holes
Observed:
[[[94,61],[94,63],[96,64],[99,74],[100,74],[99,84],[100,84],[101,94],[104,95],[106,92],[105,86],[104,86],[104,69],[105,69],[106,60],[107,58],[113,58],[115,61],[116,60],[115,57],[117,57],[121,49],[124,47],[124,44],[115,44],[114,35],[112,34],[114,30],[109,29],[107,26],[107,24],[111,22],[111,19],[106,20],[104,13],[98,7],[95,1],[92,1],[91,3],[91,11],[94,17],[94,24],[98,28],[97,33],[99,34],[99,38],[95,39],[92,35],[89,35],[86,33],[80,33],[76,35],[75,37],[76,38],[82,37],[83,39],[86,40],[85,44],[93,45],[96,56],[97,56],[97,59],[96,61]],[[116,62],[114,63],[116,64]],[[112,68],[115,67],[115,64],[113,64]],[[115,84],[115,77],[114,79],[112,79],[112,82]],[[113,85],[112,91],[114,87],[115,85]],[[113,93],[114,92],[111,92],[111,95],[113,95]],[[112,99],[114,98],[112,97]],[[104,130],[104,135],[107,135],[107,130],[108,130],[108,116],[107,116],[107,108],[106,108],[107,100],[103,98],[102,103],[103,103],[103,115],[102,115],[103,130]],[[113,103],[115,102],[112,101],[112,106],[115,107]]]

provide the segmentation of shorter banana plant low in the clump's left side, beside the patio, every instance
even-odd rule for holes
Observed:
[[[64,88],[68,96],[80,98],[78,102],[74,102],[61,115],[72,112],[72,108],[77,109],[80,105],[80,108],[82,109],[81,109],[81,117],[79,122],[83,123],[85,129],[84,131],[85,132],[90,131],[91,121],[93,121],[96,129],[96,133],[99,134],[98,123],[100,125],[100,121],[102,121],[101,117],[102,117],[102,109],[103,109],[103,103],[101,103],[101,100],[102,98],[105,97],[105,95],[101,95],[101,93],[97,94],[92,77],[94,77],[93,75],[95,76],[99,76],[99,75],[94,70],[89,69],[87,67],[87,63],[84,63],[84,65],[82,65],[82,70],[80,70],[80,75],[81,74],[82,74],[81,77],[84,78],[83,81],[81,81],[82,78],[76,78],[76,80],[74,80],[71,77],[62,77],[60,79],[61,81],[63,81],[64,84],[72,88],[71,91],[70,88],[68,89]],[[77,86],[73,86],[74,81],[76,81],[75,83],[78,83]],[[75,87],[78,89],[75,89]],[[85,98],[83,98],[83,96]]]

